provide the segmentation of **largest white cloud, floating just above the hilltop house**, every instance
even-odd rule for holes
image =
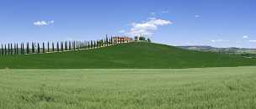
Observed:
[[[142,23],[131,23],[131,30],[127,34],[131,35],[152,35],[159,26],[173,24],[169,20],[163,20],[161,18],[148,18],[148,20]]]

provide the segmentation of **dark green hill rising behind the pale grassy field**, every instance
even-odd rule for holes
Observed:
[[[1,69],[147,69],[256,65],[255,59],[151,43],[118,44],[101,49],[0,57]]]

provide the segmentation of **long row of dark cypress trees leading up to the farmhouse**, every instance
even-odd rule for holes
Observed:
[[[100,40],[89,41],[61,41],[61,42],[43,42],[43,43],[21,43],[21,44],[2,44],[1,55],[11,54],[42,54],[51,52],[61,52],[77,49],[96,49],[112,44],[124,43],[121,40],[115,40],[113,37]]]

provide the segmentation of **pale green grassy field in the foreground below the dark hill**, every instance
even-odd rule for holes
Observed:
[[[0,108],[256,108],[255,70],[0,70]]]

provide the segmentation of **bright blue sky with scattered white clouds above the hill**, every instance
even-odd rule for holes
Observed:
[[[1,43],[147,34],[170,45],[256,48],[255,0],[1,0]]]

